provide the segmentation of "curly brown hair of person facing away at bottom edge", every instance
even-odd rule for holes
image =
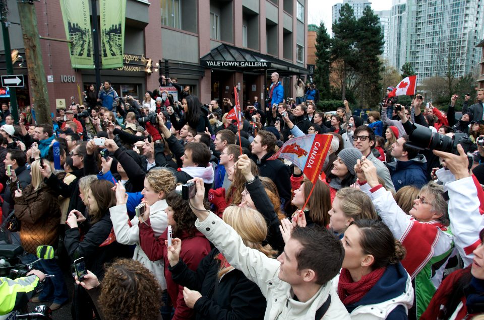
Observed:
[[[161,287],[139,261],[116,259],[106,268],[99,302],[103,319],[156,319]]]

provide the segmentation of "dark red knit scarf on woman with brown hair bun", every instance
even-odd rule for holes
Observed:
[[[344,305],[359,301],[380,280],[386,268],[379,268],[362,276],[358,282],[353,282],[348,269],[341,269],[338,282],[338,295]]]

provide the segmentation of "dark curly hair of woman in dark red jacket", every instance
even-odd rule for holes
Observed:
[[[195,231],[197,231],[195,227],[197,216],[190,208],[188,200],[181,199],[181,196],[172,191],[166,196],[166,203],[173,210],[173,220],[176,222],[173,227],[173,237],[181,237],[183,232],[188,233],[189,237],[194,236]],[[203,204],[205,209],[210,210],[208,202],[204,200]]]

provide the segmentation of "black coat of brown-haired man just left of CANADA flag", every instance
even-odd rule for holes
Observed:
[[[259,167],[259,176],[270,178],[276,185],[281,204],[283,207],[289,204],[291,200],[291,177],[289,169],[279,159],[267,160],[274,154],[274,151],[264,155],[259,162],[257,156],[252,156],[253,161]]]

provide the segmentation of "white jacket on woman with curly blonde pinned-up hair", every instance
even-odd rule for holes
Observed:
[[[150,223],[155,233],[155,236],[160,236],[168,226],[168,216],[165,209],[168,206],[166,200],[156,201],[150,206]],[[160,283],[161,289],[166,289],[166,280],[164,276],[164,262],[163,259],[158,261],[150,261],[140,246],[140,229],[138,227],[139,219],[134,217],[131,220],[131,226],[128,224],[129,217],[126,205],[118,205],[109,208],[111,213],[112,227],[116,235],[116,241],[123,245],[136,244],[133,259],[141,262],[148,270],[150,270],[155,278]]]

